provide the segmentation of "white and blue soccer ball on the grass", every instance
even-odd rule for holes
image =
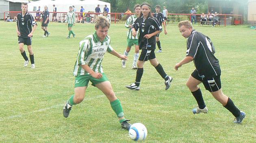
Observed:
[[[148,130],[143,124],[135,123],[130,126],[129,135],[135,141],[144,141],[148,135]]]

